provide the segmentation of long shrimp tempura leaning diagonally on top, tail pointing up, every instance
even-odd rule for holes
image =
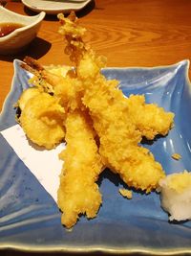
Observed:
[[[67,40],[72,59],[75,53],[77,78],[84,86],[82,102],[94,121],[104,164],[119,174],[130,187],[146,192],[156,189],[164,172],[153,154],[138,146],[141,133],[131,116],[127,100],[117,88],[117,81],[107,81],[101,75],[100,68],[104,61],[86,47],[82,39],[84,31],[80,27],[77,31],[76,18],[69,17],[68,21],[61,14],[58,17],[62,25],[59,32]]]

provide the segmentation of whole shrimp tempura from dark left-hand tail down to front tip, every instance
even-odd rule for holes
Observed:
[[[64,165],[57,203],[63,212],[62,223],[70,228],[80,214],[86,214],[87,218],[96,217],[102,201],[96,184],[103,170],[94,139],[96,132],[88,112],[82,111],[85,108],[81,103],[83,88],[81,81],[75,78],[74,71],[68,67],[67,71],[63,67],[44,68],[32,58],[25,60],[27,65],[23,67],[34,74],[31,82],[44,91],[52,88],[53,98],[67,111],[67,120],[63,124],[66,128],[67,148],[60,153]],[[35,123],[39,123],[38,118]]]

